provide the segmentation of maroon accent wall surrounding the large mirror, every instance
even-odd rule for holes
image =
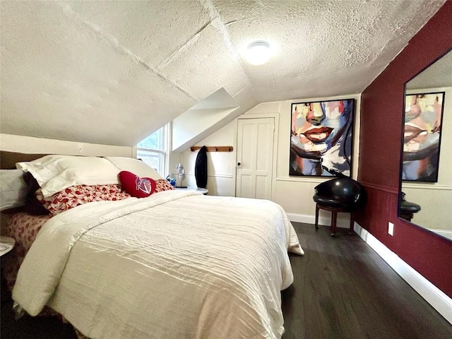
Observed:
[[[356,215],[359,225],[449,297],[452,242],[398,219],[397,208],[404,85],[452,47],[451,18],[448,0],[362,93],[358,180],[368,202]],[[394,223],[393,237],[388,221]]]

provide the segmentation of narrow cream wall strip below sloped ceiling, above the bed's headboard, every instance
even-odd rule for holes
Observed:
[[[66,154],[111,157],[132,157],[133,148],[128,146],[99,145],[95,143],[77,143],[32,136],[0,134],[0,149],[17,153]]]

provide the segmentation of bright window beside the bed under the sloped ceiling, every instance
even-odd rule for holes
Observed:
[[[143,160],[150,167],[157,169],[165,177],[165,164],[167,160],[166,126],[155,131],[136,145],[136,157]]]

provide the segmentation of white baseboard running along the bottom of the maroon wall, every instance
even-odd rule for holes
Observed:
[[[294,220],[295,221],[295,220]],[[452,324],[452,299],[438,287],[429,282],[420,273],[405,263],[397,254],[388,249],[372,234],[355,222],[355,232],[367,242],[389,266],[395,270],[417,293],[420,294],[436,311]]]

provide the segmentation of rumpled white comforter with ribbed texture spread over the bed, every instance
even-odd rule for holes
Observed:
[[[164,191],[88,203],[42,227],[13,299],[90,338],[280,338],[287,250],[303,254],[270,201]]]

